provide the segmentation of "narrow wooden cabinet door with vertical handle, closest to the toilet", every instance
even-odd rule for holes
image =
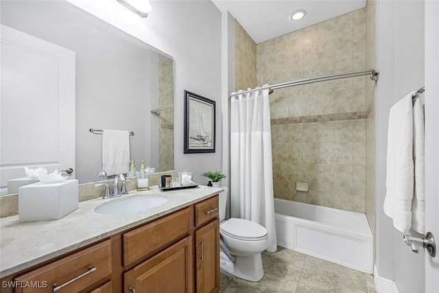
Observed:
[[[197,292],[219,292],[219,220],[195,231]]]

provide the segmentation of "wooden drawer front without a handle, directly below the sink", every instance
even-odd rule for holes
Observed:
[[[175,239],[189,235],[191,217],[192,209],[189,207],[123,233],[123,265],[128,266],[154,250],[171,244]]]

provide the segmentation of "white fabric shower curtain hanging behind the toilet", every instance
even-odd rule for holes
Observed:
[[[231,215],[264,226],[267,250],[273,253],[277,246],[268,89],[237,93],[230,103]]]

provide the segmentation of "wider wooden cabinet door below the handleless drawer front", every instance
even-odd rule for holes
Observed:
[[[123,274],[126,293],[193,292],[193,238],[188,236]]]

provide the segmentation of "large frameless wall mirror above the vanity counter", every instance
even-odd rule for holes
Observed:
[[[73,71],[69,68],[62,75],[58,59],[51,70],[51,61],[48,66],[38,63],[41,56],[50,54],[27,50],[38,52],[36,65],[27,70],[29,62],[23,67],[5,62],[11,58],[4,52],[17,50],[4,40],[2,30],[2,194],[8,178],[25,176],[24,166],[43,165],[48,172],[73,167],[72,177],[80,183],[99,180],[102,133],[92,133],[90,128],[134,132],[130,159],[137,169],[141,161],[156,172],[174,169],[174,61],[170,56],[67,1],[1,1],[0,5],[0,22],[12,28],[12,35],[24,33],[34,38],[31,43],[42,40],[73,55]],[[20,54],[18,60],[23,60]],[[27,80],[22,79],[24,75]],[[62,84],[65,76],[73,80],[71,91]],[[68,95],[73,102],[64,104]],[[69,149],[70,156],[61,154]],[[63,163],[62,156],[69,163]]]

